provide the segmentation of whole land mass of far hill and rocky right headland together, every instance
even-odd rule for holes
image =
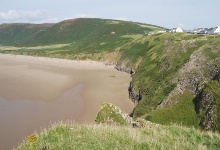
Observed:
[[[0,25],[0,52],[117,64],[135,72],[133,117],[220,131],[220,36],[118,20]]]

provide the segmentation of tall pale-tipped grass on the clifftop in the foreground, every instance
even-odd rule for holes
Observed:
[[[31,136],[32,137],[32,136]],[[155,128],[56,124],[17,149],[220,149],[220,135],[177,125]]]

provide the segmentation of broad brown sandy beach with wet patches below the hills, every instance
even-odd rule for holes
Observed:
[[[0,149],[55,122],[94,123],[102,102],[131,113],[130,80],[103,63],[0,54]]]

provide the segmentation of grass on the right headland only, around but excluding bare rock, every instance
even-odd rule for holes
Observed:
[[[178,104],[153,110],[176,87],[174,79],[178,77],[178,71],[189,61],[193,52],[208,44],[208,48],[203,49],[204,56],[209,61],[220,58],[220,36],[207,36],[207,40],[201,40],[204,37],[206,36],[187,34],[163,34],[149,37],[148,47],[145,49],[145,59],[133,78],[133,84],[138,86],[143,94],[143,99],[135,108],[134,116],[143,116],[157,123],[176,122],[198,126],[198,117],[193,104],[195,95],[187,90],[184,91],[184,94],[173,98],[178,99]],[[183,41],[191,40],[194,41],[192,44],[183,44]],[[183,49],[185,50],[183,51]],[[216,49],[218,49],[217,52]],[[204,64],[203,66],[204,68],[200,71],[205,72],[206,66]],[[203,74],[210,74],[210,72]],[[219,88],[215,88],[215,90],[219,91]],[[216,99],[219,101],[219,96],[216,96]],[[219,109],[218,115],[220,115]]]

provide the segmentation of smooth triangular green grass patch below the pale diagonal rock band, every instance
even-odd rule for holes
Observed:
[[[165,108],[157,108],[148,118],[152,122],[170,125],[171,123],[199,128],[199,118],[194,106],[194,96],[190,93],[177,95],[178,103]]]

